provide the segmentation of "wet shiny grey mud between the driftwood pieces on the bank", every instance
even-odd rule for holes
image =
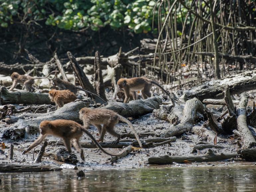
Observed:
[[[112,97],[112,91],[109,93],[106,93],[106,96],[108,98]],[[109,103],[115,103],[115,100],[109,100]],[[19,106],[16,105],[16,108],[24,108],[26,105]],[[37,105],[34,107],[35,109],[40,107],[40,105]],[[53,105],[47,105],[48,108],[51,108],[50,110],[55,110],[56,106]],[[28,111],[26,113],[33,113],[33,111]],[[20,115],[20,114],[16,114]],[[42,113],[44,115],[44,113]],[[158,133],[162,129],[166,129],[171,126],[171,124],[164,120],[157,119],[152,113],[138,117],[138,118],[128,118],[134,125],[135,129],[138,133],[145,133],[145,132],[153,132]],[[202,122],[198,122],[197,125],[201,125]],[[1,128],[1,134],[3,133],[4,127],[8,126],[6,123],[1,122],[0,128]],[[115,129],[118,133],[124,134],[124,133],[130,133],[131,129],[125,124],[125,123],[118,123],[115,126]],[[98,133],[97,129],[93,126],[90,127],[89,131],[97,138]],[[39,134],[34,135],[28,135],[26,138],[11,141],[11,140],[3,140],[1,142],[4,142],[6,145],[5,149],[2,149],[3,152],[0,154],[0,163],[12,163],[12,164],[31,164],[34,165],[33,160],[33,150],[28,152],[25,155],[22,155],[22,151],[27,148],[37,137]],[[141,138],[143,141],[144,139],[152,138],[152,136]],[[123,138],[128,139],[128,138]],[[123,140],[121,139],[121,140]],[[51,165],[51,166],[58,166],[60,167],[61,164],[64,162],[60,162],[53,159],[53,155],[60,153],[65,150],[65,147],[63,145],[56,145],[51,144],[51,142],[60,141],[61,139],[48,136],[47,139],[48,146],[46,147],[44,156],[42,158],[42,163],[39,163],[41,165]],[[85,134],[81,137],[81,142],[89,142],[88,136]],[[104,142],[109,141],[115,141],[115,138],[106,134],[104,138]],[[111,157],[109,155],[106,155],[105,153],[101,152],[97,148],[83,148],[84,150],[84,156],[85,161],[82,161],[80,158],[79,153],[75,150],[75,148],[72,147],[72,153],[76,155],[78,162],[76,163],[76,166],[78,169],[85,169],[85,170],[93,170],[93,169],[125,169],[125,168],[138,168],[147,165],[147,161],[149,157],[152,156],[164,156],[164,155],[196,155],[197,152],[192,152],[193,146],[198,142],[204,142],[213,144],[213,141],[207,142],[204,141],[203,138],[198,137],[197,135],[189,132],[186,134],[183,134],[181,137],[177,138],[176,142],[172,142],[171,144],[165,144],[161,146],[156,146],[154,148],[143,148],[139,150],[134,150],[132,153],[128,154],[126,157],[123,157],[117,161],[115,161],[112,165],[110,162]],[[9,160],[8,157],[8,150],[11,144],[14,144],[14,159]],[[234,142],[234,139],[221,139],[220,141],[217,141],[218,146],[222,146],[223,148],[212,148],[213,152],[216,153],[232,153],[237,150],[238,146],[236,142]],[[34,153],[34,159],[36,158],[42,144],[37,146],[35,148]],[[107,151],[112,153],[118,153],[122,149],[118,148],[105,148]],[[208,148],[201,149],[199,152],[200,154],[206,153]],[[204,164],[204,163],[202,163]]]

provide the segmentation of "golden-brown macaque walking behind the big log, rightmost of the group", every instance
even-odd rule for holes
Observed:
[[[162,89],[167,95],[170,96],[170,94],[157,82],[152,81],[146,77],[134,77],[130,79],[119,79],[117,81],[117,85],[119,86],[119,89],[123,89],[125,93],[125,99],[124,103],[129,102],[129,95],[130,93],[133,95],[133,99],[137,99],[136,91],[141,91],[143,99],[147,99],[148,97],[151,97],[150,89],[154,85],[158,86],[160,89]]]

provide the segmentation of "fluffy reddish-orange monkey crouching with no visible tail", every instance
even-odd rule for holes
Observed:
[[[58,106],[58,109],[63,107],[64,104],[76,100],[76,96],[69,90],[55,90],[49,91],[49,98]]]

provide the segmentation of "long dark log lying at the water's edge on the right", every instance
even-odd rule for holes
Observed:
[[[235,158],[236,153],[214,153],[211,149],[208,149],[207,153],[203,155],[188,155],[188,156],[160,156],[160,157],[149,157],[149,164],[172,164],[176,163],[187,163],[187,162],[212,162],[220,161],[230,158]]]

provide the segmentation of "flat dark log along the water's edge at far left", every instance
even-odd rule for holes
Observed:
[[[62,168],[47,165],[17,165],[17,164],[0,164],[0,172],[44,172],[44,171],[61,171]]]

